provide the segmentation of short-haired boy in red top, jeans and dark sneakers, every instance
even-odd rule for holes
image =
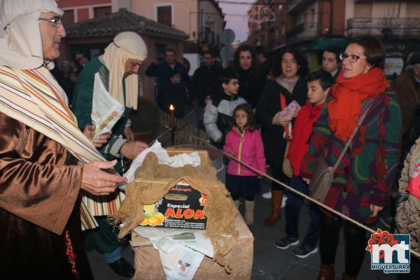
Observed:
[[[299,190],[301,193],[309,192],[308,185],[300,177],[300,165],[307,149],[309,139],[312,134],[313,125],[318,119],[325,99],[327,98],[330,87],[333,84],[330,73],[318,70],[308,76],[308,99],[302,107],[293,125],[293,139],[290,142],[287,158],[293,169],[293,176],[290,179],[290,186]],[[277,248],[286,249],[290,246],[299,244],[299,233],[297,226],[299,223],[299,213],[304,199],[295,193],[288,193],[286,202],[286,237],[276,243]],[[304,237],[303,243],[295,248],[292,253],[298,258],[307,258],[309,255],[318,251],[318,237],[321,228],[321,212],[316,204],[311,204],[309,208],[311,223]]]

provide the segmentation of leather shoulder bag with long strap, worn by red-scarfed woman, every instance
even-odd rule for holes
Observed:
[[[358,128],[362,124],[367,111],[369,111],[370,106],[372,106],[373,99],[370,98],[367,103],[365,104],[365,108],[363,110],[362,115],[358,119],[358,123],[353,130],[349,140],[346,142],[346,146],[344,146],[342,153],[337,158],[337,162],[335,162],[334,166],[330,166],[327,164],[325,157],[321,154],[315,161],[314,164],[314,175],[309,183],[309,196],[312,197],[314,200],[318,202],[324,202],[325,198],[328,195],[328,190],[330,190],[330,186],[332,183],[332,179],[334,179],[335,169],[337,169],[339,162],[341,162],[344,154],[346,153],[347,149],[349,148],[351,141],[353,140]]]

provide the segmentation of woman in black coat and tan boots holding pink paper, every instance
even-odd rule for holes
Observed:
[[[282,170],[286,149],[286,139],[284,139],[283,133],[284,126],[288,126],[290,120],[281,117],[278,113],[284,109],[281,106],[281,99],[285,100],[285,106],[293,100],[303,106],[306,101],[307,60],[295,50],[285,50],[274,60],[272,73],[274,80],[267,82],[258,102],[256,113],[258,122],[262,126],[265,157],[271,165],[272,176],[283,183],[288,183],[288,177],[283,174]],[[297,115],[297,112],[295,114]],[[283,187],[273,182],[272,213],[265,220],[266,225],[274,225],[279,220],[282,199]]]

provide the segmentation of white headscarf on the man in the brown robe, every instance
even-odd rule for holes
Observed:
[[[0,0],[0,65],[36,69],[44,63],[41,13],[64,12],[54,0]]]

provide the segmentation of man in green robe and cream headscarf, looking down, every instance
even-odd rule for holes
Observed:
[[[123,116],[110,132],[111,137],[99,149],[106,160],[118,159],[115,169],[120,174],[123,173],[123,158],[133,159],[148,146],[141,141],[134,141],[134,134],[130,127],[130,113],[132,109],[137,109],[139,69],[146,57],[147,48],[141,36],[131,31],[121,32],[106,47],[104,55],[95,57],[85,66],[76,82],[73,113],[78,120],[80,130],[85,130],[86,127],[90,130],[95,128],[91,117],[94,83],[102,83],[109,94],[125,107]],[[95,81],[97,73],[100,79]],[[112,204],[122,199],[120,194],[113,194],[110,200],[114,201],[102,203]],[[91,200],[88,203],[97,202]],[[91,212],[96,212],[94,209],[98,209],[101,205],[98,203],[97,207],[88,208],[92,209]],[[134,268],[121,257],[121,243],[108,222],[106,214],[111,213],[91,214],[95,217],[99,228],[85,231],[86,250],[95,249],[102,253],[102,258],[117,274],[133,276]]]

